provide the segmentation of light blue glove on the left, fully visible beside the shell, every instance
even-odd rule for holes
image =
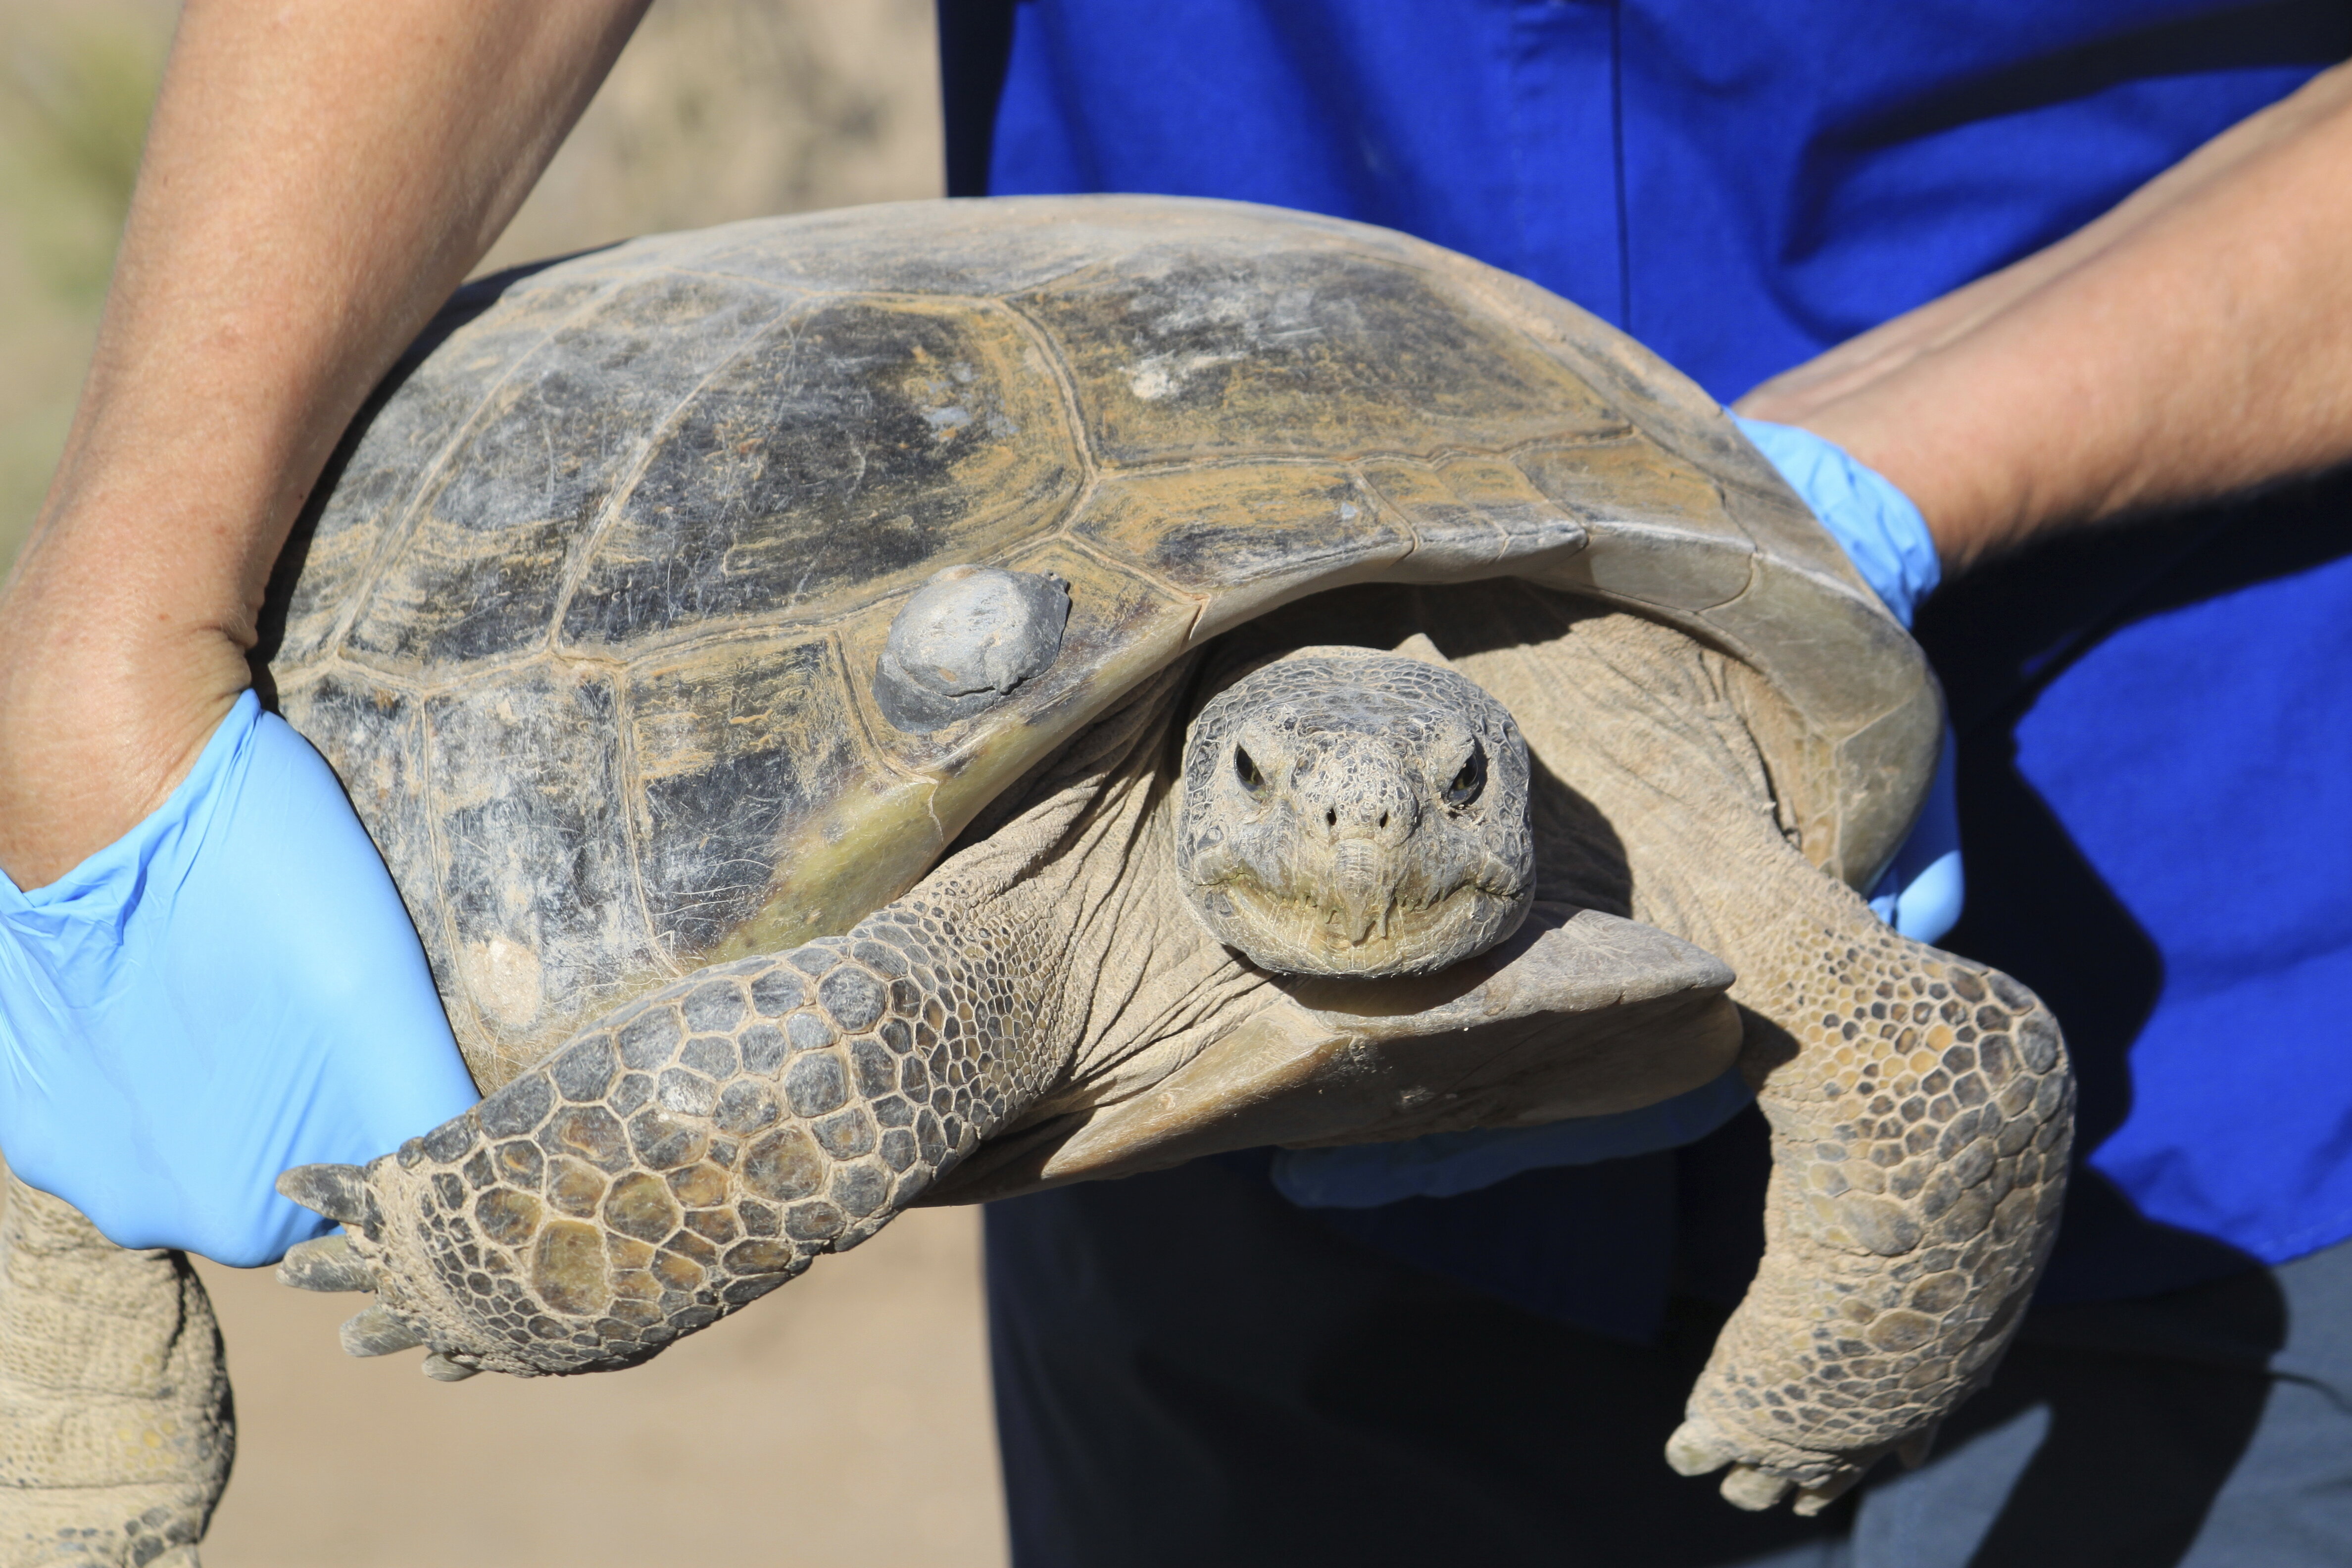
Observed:
[[[475,1098],[383,860],[252,691],[127,837],[0,875],[0,1152],[122,1246],[270,1262],[329,1227],[280,1171]]]

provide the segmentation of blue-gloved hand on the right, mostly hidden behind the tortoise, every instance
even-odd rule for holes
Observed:
[[[1846,559],[1886,602],[1893,618],[1910,625],[1912,611],[1943,578],[1936,541],[1910,496],[1811,430],[1738,416],[1733,421],[1844,545]],[[1952,731],[1945,729],[1936,780],[1929,785],[1919,823],[1870,898],[1879,919],[1922,943],[1933,943],[1959,919],[1959,809],[1952,750]],[[1672,1100],[1613,1117],[1432,1133],[1343,1150],[1282,1150],[1275,1154],[1272,1180],[1282,1197],[1305,1208],[1374,1208],[1409,1197],[1454,1197],[1538,1166],[1588,1166],[1696,1143],[1736,1117],[1750,1098],[1748,1084],[1733,1070]]]

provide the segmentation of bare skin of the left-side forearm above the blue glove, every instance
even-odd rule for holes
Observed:
[[[38,886],[245,686],[294,515],[647,0],[193,0],[64,463],[0,599],[0,867]]]

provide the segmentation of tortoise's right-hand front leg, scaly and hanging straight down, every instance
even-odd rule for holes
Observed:
[[[2074,1081],[2058,1023],[2009,976],[1851,917],[1790,924],[1797,1056],[1757,1095],[1773,1168],[1764,1265],[1691,1389],[1668,1462],[1724,1497],[1813,1514],[1884,1453],[1919,1462],[1983,1385],[2065,1194]]]

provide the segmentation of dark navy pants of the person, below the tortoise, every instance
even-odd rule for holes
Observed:
[[[1247,1161],[995,1204],[988,1302],[1016,1568],[2352,1561],[2352,1244],[2037,1309],[1924,1469],[1816,1521],[1661,1458],[1722,1307],[1566,1328]]]

